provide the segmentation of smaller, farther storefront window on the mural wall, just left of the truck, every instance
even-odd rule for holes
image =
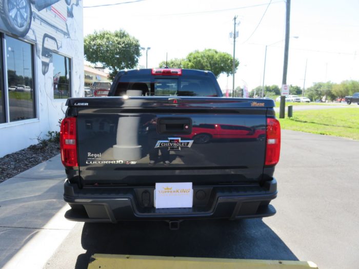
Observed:
[[[53,53],[53,79],[54,79],[54,98],[65,99],[71,96],[71,81],[70,81],[70,59]]]

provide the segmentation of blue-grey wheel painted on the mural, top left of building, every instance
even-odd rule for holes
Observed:
[[[0,16],[8,30],[17,35],[25,36],[30,29],[32,10],[29,0],[1,0]]]

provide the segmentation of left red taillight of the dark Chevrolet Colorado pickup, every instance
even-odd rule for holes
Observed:
[[[78,167],[76,146],[76,118],[64,118],[60,129],[60,149],[65,166]]]

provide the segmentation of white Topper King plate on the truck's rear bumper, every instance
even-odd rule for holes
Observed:
[[[192,182],[156,183],[154,190],[155,208],[192,208],[192,205]]]

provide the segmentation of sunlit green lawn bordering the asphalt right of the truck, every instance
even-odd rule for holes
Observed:
[[[292,118],[280,119],[282,129],[359,140],[359,109],[294,111]]]

